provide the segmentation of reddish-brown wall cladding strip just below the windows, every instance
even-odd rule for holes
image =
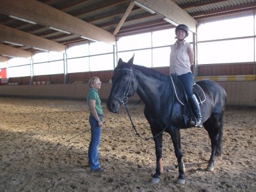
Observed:
[[[169,67],[156,67],[157,71],[168,75]],[[236,76],[236,75],[253,75],[256,74],[256,63],[239,63],[225,65],[199,65],[198,76]],[[68,74],[68,83],[88,82],[93,76],[100,78],[102,83],[109,83],[109,79],[113,76],[113,70],[97,71],[97,72],[80,72]],[[29,84],[30,77],[12,77],[9,78],[10,83]],[[64,75],[54,74],[47,76],[34,76],[33,81],[50,81],[52,84],[63,84]]]

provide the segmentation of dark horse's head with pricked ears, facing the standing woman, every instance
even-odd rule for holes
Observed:
[[[136,93],[138,81],[132,72],[133,58],[125,63],[118,60],[118,65],[112,77],[112,88],[107,101],[109,111],[118,113],[120,104],[126,104],[128,97]]]

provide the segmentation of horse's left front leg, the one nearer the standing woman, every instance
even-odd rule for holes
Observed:
[[[154,135],[154,134],[153,134]],[[163,173],[163,158],[162,158],[162,147],[163,147],[163,134],[160,134],[154,138],[156,147],[156,173],[153,175],[151,182],[156,184],[160,180],[160,175]]]

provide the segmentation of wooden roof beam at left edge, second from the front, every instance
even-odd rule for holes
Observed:
[[[8,26],[0,24],[0,40],[3,42],[10,42],[20,44],[28,47],[34,47],[35,49],[41,49],[45,51],[65,51],[66,46],[58,44],[54,41],[47,40],[45,38],[19,31]],[[1,53],[0,53],[1,54]]]

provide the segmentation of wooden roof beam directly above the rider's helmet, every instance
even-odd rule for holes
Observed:
[[[136,2],[143,4],[150,10],[162,15],[166,19],[172,21],[172,24],[177,26],[178,24],[186,24],[190,31],[196,32],[196,25],[198,24],[193,17],[187,12],[182,10],[172,0],[136,0]]]

